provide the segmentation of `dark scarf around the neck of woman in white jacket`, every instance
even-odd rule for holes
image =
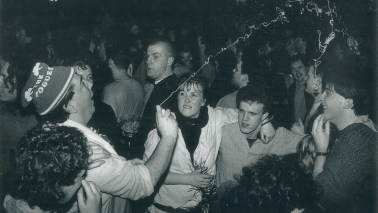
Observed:
[[[176,121],[178,128],[180,128],[182,137],[186,145],[186,149],[191,154],[193,163],[193,155],[198,143],[200,142],[201,129],[204,128],[209,122],[208,108],[206,105],[201,107],[200,115],[198,118],[186,118],[180,111],[176,111]]]

